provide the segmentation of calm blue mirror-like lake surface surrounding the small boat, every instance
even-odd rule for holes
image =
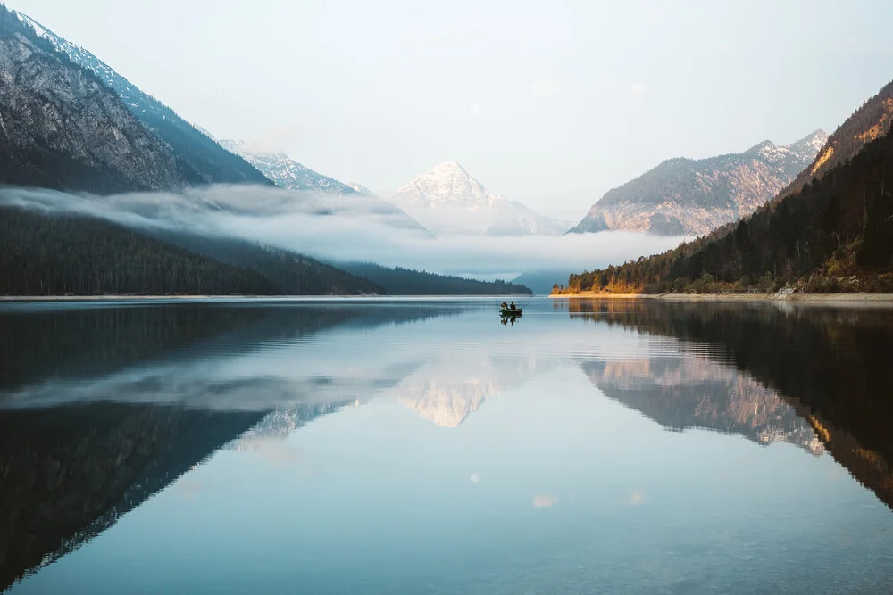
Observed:
[[[0,590],[880,593],[893,309],[0,304]]]

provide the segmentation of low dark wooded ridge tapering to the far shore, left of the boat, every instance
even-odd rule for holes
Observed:
[[[356,277],[369,279],[391,295],[530,295],[528,287],[505,281],[478,281],[425,271],[382,267],[371,262],[338,263]]]

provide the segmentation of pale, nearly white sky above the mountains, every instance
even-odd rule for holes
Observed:
[[[833,129],[888,0],[5,0],[215,136],[387,196],[440,161],[580,219],[664,159]]]

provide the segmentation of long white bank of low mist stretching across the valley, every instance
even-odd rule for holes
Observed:
[[[479,278],[595,269],[664,252],[683,239],[632,232],[432,237],[408,226],[412,219],[380,199],[266,186],[205,186],[181,194],[112,196],[18,188],[0,192],[0,204],[87,214],[138,229],[238,237],[333,262],[363,260]]]

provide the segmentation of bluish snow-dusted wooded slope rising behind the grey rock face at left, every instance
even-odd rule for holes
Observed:
[[[28,37],[37,36],[44,40],[46,43],[40,45],[45,50],[50,50],[52,47],[68,56],[71,62],[90,70],[96,75],[94,79],[103,81],[104,85],[112,89],[137,120],[175,155],[180,175],[190,184],[270,184],[269,180],[264,178],[247,161],[223,149],[213,140],[213,137],[189,124],[171,108],[138,89],[128,79],[112,70],[108,64],[90,54],[86,49],[57,36],[38,21],[34,21],[24,14],[3,10],[6,21],[12,21],[9,17],[14,15],[28,29],[33,29],[33,33]],[[9,33],[10,31],[4,30],[3,37],[9,37]],[[21,59],[25,60],[27,56],[23,55]],[[39,80],[43,81],[44,86],[56,84],[49,82],[58,79],[49,76],[49,71],[45,70],[46,66],[34,65],[33,68],[43,72],[43,76]],[[4,68],[4,71],[8,70]],[[63,92],[60,90],[59,93]],[[118,117],[115,116],[109,120],[117,121]],[[107,134],[112,135],[111,132]],[[138,150],[136,153],[144,153],[144,151]]]

